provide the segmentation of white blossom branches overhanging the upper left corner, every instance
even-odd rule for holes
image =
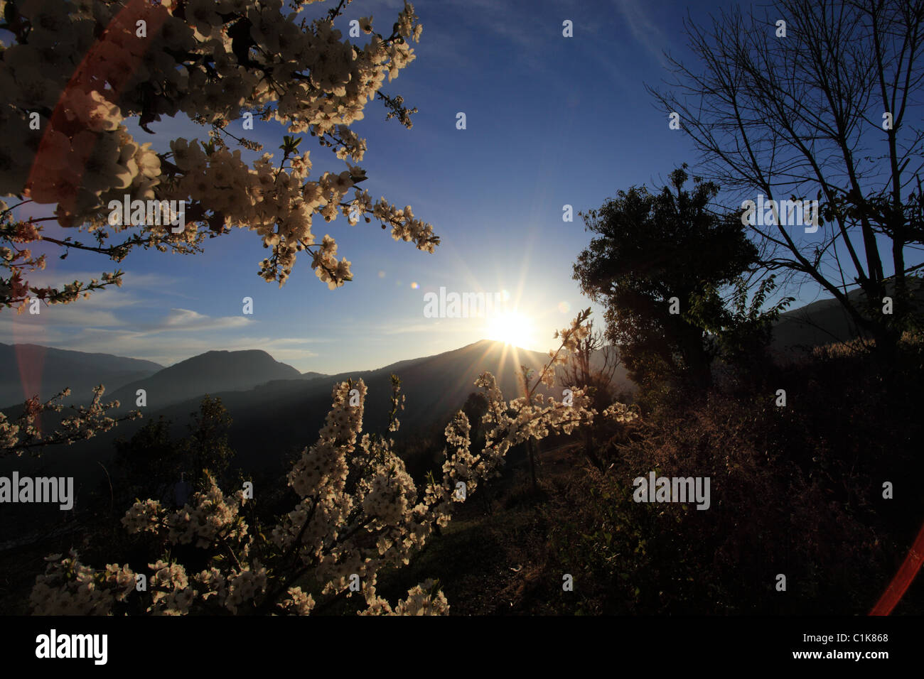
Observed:
[[[390,225],[396,240],[432,252],[439,244],[432,225],[410,207],[399,209],[384,198],[373,202],[356,188],[366,178],[358,166],[346,163],[342,171],[309,180],[309,153],[295,153],[295,141],[284,147],[277,164],[265,153],[248,165],[239,150],[227,148],[228,139],[245,149],[259,147],[227,131],[230,123],[249,116],[281,123],[293,135],[309,132],[337,159],[358,163],[366,141],[349,126],[363,118],[377,95],[409,127],[403,100],[381,88],[386,77],[394,79],[414,59],[409,42],[419,40],[421,27],[413,6],[405,4],[387,36],[374,32],[371,18],[363,18],[362,28],[371,37],[361,47],[334,29],[339,9],[302,22],[285,11],[282,0],[126,6],[105,0],[23,0],[7,6],[4,26],[15,42],[0,45],[0,127],[9,131],[0,139],[0,196],[26,197],[20,207],[54,204],[59,224],[92,233],[99,243],[140,229],[143,237],[119,248],[93,248],[116,261],[134,246],[189,252],[207,232],[248,228],[272,249],[261,262],[261,276],[280,285],[303,250],[330,287],[351,279],[349,261],[334,258],[333,238],[312,234],[312,217],[318,214],[330,222],[343,213],[350,224],[368,215],[366,222],[376,218],[383,229]],[[164,115],[188,115],[211,126],[212,139],[175,139],[170,152],[157,153],[150,143],[136,141],[125,125],[137,118],[145,127]],[[172,233],[150,224],[109,224],[106,206],[126,195],[188,201],[186,228]],[[19,230],[21,224],[30,224],[34,233],[20,242],[69,246],[43,237],[31,220],[17,224]],[[6,230],[0,236],[11,237]],[[0,280],[6,287],[0,298],[21,299],[28,289],[21,272],[43,262],[29,263],[28,255],[6,250],[0,255],[0,264],[12,271]]]

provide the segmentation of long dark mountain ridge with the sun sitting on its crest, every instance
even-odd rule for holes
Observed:
[[[161,416],[173,423],[173,436],[187,435],[189,414],[198,410],[205,393],[220,397],[232,418],[229,443],[237,451],[235,466],[244,473],[279,474],[286,470],[286,460],[290,461],[291,455],[317,441],[337,382],[361,379],[366,383],[363,431],[387,434],[391,375],[398,375],[401,393],[407,397],[405,409],[397,414],[401,429],[396,436],[401,437],[415,435],[434,424],[442,429],[465,404],[468,394],[480,391],[474,382],[483,371],[494,374],[505,398],[510,400],[520,394],[520,366],[541,370],[548,359],[546,354],[482,340],[377,370],[303,375],[263,351],[210,351],[111,394],[123,404],[122,410],[128,410],[135,408],[136,390],[145,389],[148,405],[141,408],[144,419],[122,422],[115,430],[90,441],[49,449],[39,458],[0,458],[0,475],[17,469],[22,475],[54,471],[58,476],[73,476],[79,503],[104,481],[116,438],[128,439],[148,418],[156,420]],[[625,373],[620,374],[623,382],[617,381],[617,388],[624,389],[629,385],[624,380]],[[551,392],[542,387],[537,391],[561,400],[562,388],[556,383]],[[10,412],[7,415],[15,416]],[[55,426],[54,418],[43,421],[49,428]],[[54,522],[58,516],[49,509],[47,518]],[[0,538],[2,529],[0,526]]]

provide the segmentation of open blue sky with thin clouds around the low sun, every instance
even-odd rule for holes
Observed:
[[[312,7],[326,5],[310,6],[312,16],[320,11]],[[371,14],[383,30],[400,6],[356,0],[336,25],[346,33],[349,19]],[[261,348],[298,370],[364,370],[496,334],[480,319],[425,318],[424,294],[445,286],[506,290],[521,346],[552,348],[553,331],[590,306],[571,278],[590,241],[577,211],[621,188],[661,185],[683,162],[696,169],[691,143],[668,128],[644,84],[666,78],[663,49],[687,56],[687,9],[701,22],[717,4],[419,0],[415,7],[423,24],[417,59],[383,89],[419,108],[414,127],[385,121],[383,107],[371,103],[354,129],[369,145],[363,188],[373,200],[412,205],[432,223],[443,241],[433,254],[395,242],[374,220],[316,220],[316,237],[334,236],[354,280],[330,291],[304,257],[280,289],[257,275],[265,256],[259,236],[235,229],[207,241],[198,256],[133,253],[122,263],[121,289],[39,317],[4,312],[0,341],[163,364],[209,349]],[[565,19],[574,22],[574,38],[562,36]],[[456,129],[457,112],[465,112],[467,129]],[[134,132],[158,150],[176,136],[207,133],[188,121],[152,127],[153,138]],[[281,153],[285,130],[255,127],[252,137]],[[311,152],[312,176],[345,169],[312,141],[301,145]],[[564,204],[574,207],[573,223],[562,221]],[[98,276],[110,263],[72,252],[43,280]],[[791,292],[801,301],[818,297],[812,286]],[[243,297],[254,300],[252,316],[242,314]]]

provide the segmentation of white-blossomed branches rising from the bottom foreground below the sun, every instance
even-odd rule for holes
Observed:
[[[488,401],[484,448],[471,451],[471,426],[459,411],[445,430],[449,450],[443,478],[431,475],[422,492],[395,454],[392,439],[361,433],[367,389],[359,381],[334,386],[318,440],[288,473],[298,503],[276,526],[249,526],[240,513],[244,494],[223,493],[208,475],[204,489],[179,510],[167,511],[153,500],[135,503],[123,518],[129,532],[151,532],[168,545],[188,544],[211,555],[191,577],[175,561],[149,564],[156,595],[145,611],[309,614],[356,595],[365,614],[447,612],[448,603],[432,581],[411,588],[407,599],[392,607],[376,592],[378,574],[384,567],[408,564],[434,527],[447,525],[454,505],[499,471],[511,446],[570,432],[596,415],[584,389],[572,390],[571,405],[532,391],[508,402],[490,372],[475,383]],[[399,390],[395,378],[392,431],[403,407]],[[620,415],[624,409],[608,411]],[[458,483],[466,484],[465,494],[456,492]],[[72,576],[75,568],[93,575]],[[36,612],[111,612],[130,573],[118,564],[92,572],[76,555],[53,560],[37,581],[32,604]],[[357,582],[358,588],[351,587]],[[97,593],[82,591],[87,588]]]

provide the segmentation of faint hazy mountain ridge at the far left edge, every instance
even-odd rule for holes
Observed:
[[[70,387],[71,395],[65,403],[85,402],[97,384],[103,383],[109,395],[128,382],[164,369],[139,358],[2,343],[0,364],[6,367],[0,375],[0,408],[21,405],[35,394],[47,400],[66,387]]]

